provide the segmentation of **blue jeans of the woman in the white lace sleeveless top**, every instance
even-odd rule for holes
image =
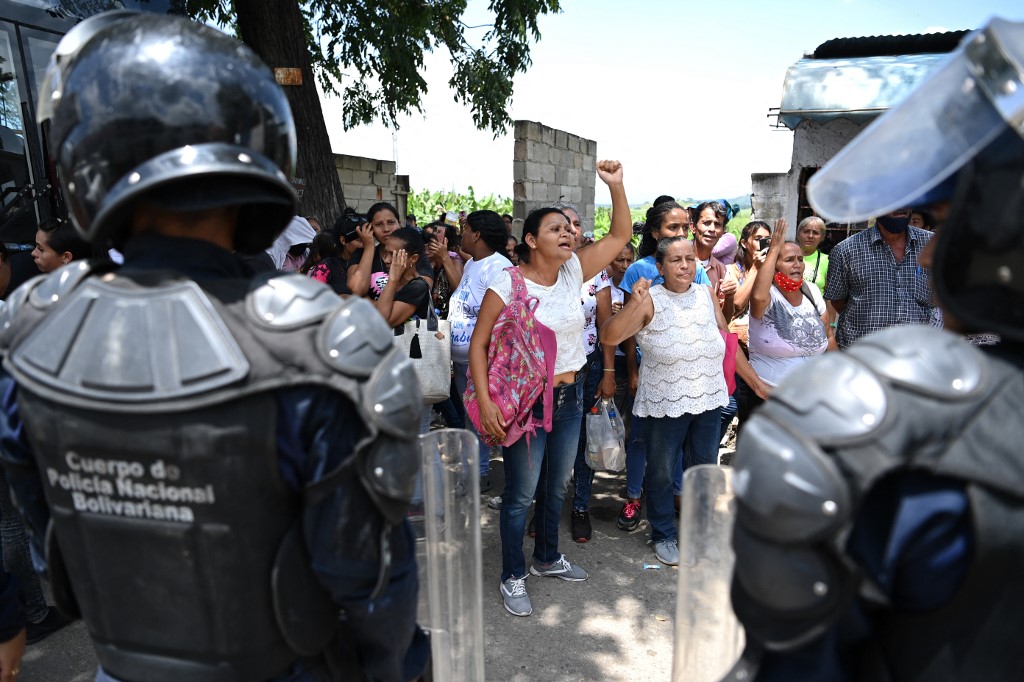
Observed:
[[[647,520],[653,542],[676,539],[676,510],[673,493],[679,447],[686,467],[718,461],[718,433],[722,409],[682,417],[647,417]],[[675,483],[676,491],[673,491]]]

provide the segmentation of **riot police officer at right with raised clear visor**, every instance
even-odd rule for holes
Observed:
[[[993,19],[812,179],[856,222],[945,213],[946,327],[807,364],[736,455],[731,679],[1024,678],[1024,24]]]

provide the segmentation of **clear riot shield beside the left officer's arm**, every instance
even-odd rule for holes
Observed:
[[[430,634],[434,680],[483,679],[480,465],[476,436],[439,429],[420,436],[424,504],[414,517],[419,623]]]

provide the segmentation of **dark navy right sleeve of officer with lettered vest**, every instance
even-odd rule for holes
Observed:
[[[287,479],[319,480],[352,457],[367,435],[357,410],[340,393],[290,389],[279,391],[278,399]],[[416,625],[418,574],[409,524],[388,526],[352,476],[306,508],[303,530],[316,577],[345,611],[364,672],[375,680],[417,677],[427,645]],[[380,594],[371,598],[381,576],[382,541],[391,552],[391,569]]]

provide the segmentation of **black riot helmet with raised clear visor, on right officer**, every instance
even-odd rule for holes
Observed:
[[[1024,23],[972,33],[807,184],[838,222],[949,201],[932,282],[966,331],[1024,341]]]

